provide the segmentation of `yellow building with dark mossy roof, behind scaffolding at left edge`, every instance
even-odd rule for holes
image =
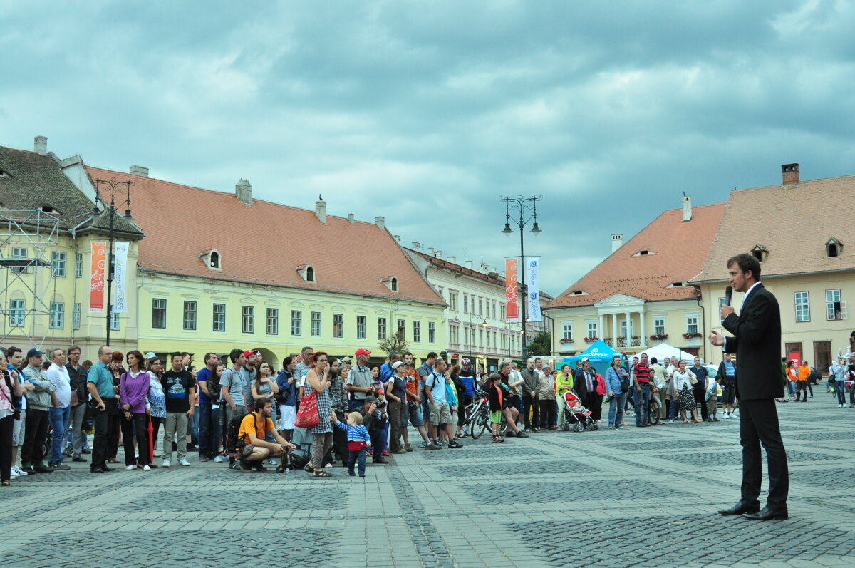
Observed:
[[[80,157],[60,160],[49,153],[44,137],[36,138],[34,151],[0,147],[3,346],[26,352],[32,346],[48,351],[78,345],[84,358],[94,360],[104,344],[107,311],[91,311],[91,243],[109,240],[109,203],[74,186],[71,177],[82,169]],[[115,240],[129,247],[127,312],[111,318],[111,344],[126,351],[137,345],[134,291],[143,234],[121,214],[113,222]]]

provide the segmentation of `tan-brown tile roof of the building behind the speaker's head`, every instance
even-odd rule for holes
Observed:
[[[853,199],[855,175],[730,192],[715,242],[693,281],[726,280],[728,258],[756,245],[769,250],[761,278],[855,269],[855,228],[848,212]],[[830,237],[844,245],[839,257],[826,256]]]

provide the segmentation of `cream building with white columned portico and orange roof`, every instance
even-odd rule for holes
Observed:
[[[705,310],[689,284],[704,265],[725,204],[667,210],[546,305],[553,352],[569,356],[597,339],[628,354],[667,342],[699,352]]]

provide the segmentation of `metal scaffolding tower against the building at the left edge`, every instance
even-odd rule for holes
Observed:
[[[0,210],[0,269],[5,272],[0,274],[0,343],[20,337],[42,349],[48,335],[56,331],[51,323],[59,316],[50,303],[56,294],[53,252],[58,246],[55,214],[40,209]]]

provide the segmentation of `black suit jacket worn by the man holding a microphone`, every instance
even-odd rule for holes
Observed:
[[[740,315],[724,318],[724,328],[734,334],[724,347],[739,359],[736,395],[740,400],[782,397],[781,309],[775,296],[758,284],[742,304]]]

